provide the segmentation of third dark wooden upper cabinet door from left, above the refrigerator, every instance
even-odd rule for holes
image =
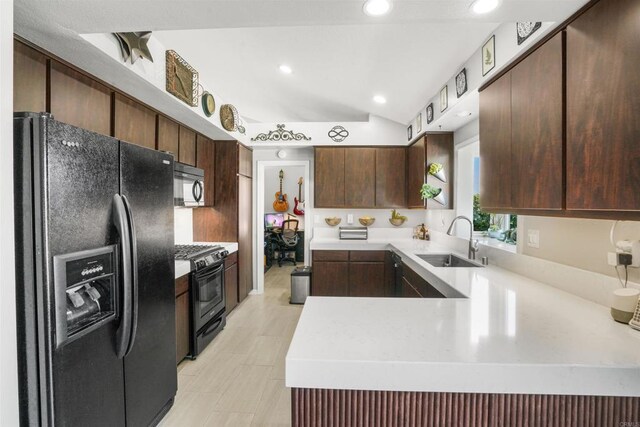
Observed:
[[[140,103],[116,93],[114,105],[116,138],[143,147],[156,148],[156,113]]]

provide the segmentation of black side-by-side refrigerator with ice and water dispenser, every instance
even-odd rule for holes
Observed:
[[[177,389],[173,157],[14,117],[22,425],[148,426]]]

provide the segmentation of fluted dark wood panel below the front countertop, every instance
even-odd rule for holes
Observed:
[[[640,397],[291,390],[291,425],[603,427],[640,420]]]

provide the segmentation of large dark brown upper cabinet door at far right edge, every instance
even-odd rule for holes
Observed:
[[[601,0],[567,27],[567,209],[640,210],[640,2]]]

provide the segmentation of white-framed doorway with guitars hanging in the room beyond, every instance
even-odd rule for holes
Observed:
[[[282,171],[282,179],[280,178]],[[309,259],[309,241],[312,237],[312,208],[310,198],[309,176],[310,162],[308,160],[269,160],[257,162],[256,181],[256,245],[254,252],[255,262],[255,290],[257,293],[264,292],[264,274],[266,267],[280,268],[278,262],[273,258],[275,253],[279,254],[279,249],[283,246],[280,244],[280,237],[277,235],[277,229],[282,225],[282,221],[290,220],[287,224],[290,227],[296,225],[299,243],[287,247],[287,258],[294,257],[297,265],[302,266],[308,264]],[[283,198],[276,202],[276,193],[280,192],[282,181],[282,195],[286,195],[286,210],[283,210]],[[295,200],[298,200],[298,208],[296,208]],[[300,202],[304,203],[300,203]],[[275,205],[275,206],[274,206]],[[278,208],[278,209],[276,209]],[[298,212],[297,214],[294,212]],[[300,212],[303,211],[303,214]],[[308,224],[308,226],[307,226]],[[266,245],[265,245],[266,243]],[[271,257],[271,259],[268,259]],[[290,261],[285,261],[283,265],[292,265]]]

